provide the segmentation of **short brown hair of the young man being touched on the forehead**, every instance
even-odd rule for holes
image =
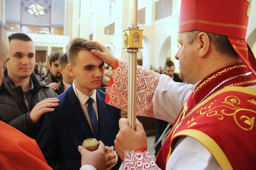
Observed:
[[[99,47],[94,44],[86,42],[88,40],[84,38],[74,38],[68,48],[68,62],[75,65],[75,59],[80,50],[91,51],[92,49],[101,51]]]

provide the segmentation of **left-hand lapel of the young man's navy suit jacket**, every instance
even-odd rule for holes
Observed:
[[[93,133],[91,132],[89,123],[86,120],[84,111],[80,105],[80,102],[79,102],[77,96],[75,95],[72,85],[67,91],[68,91],[68,98],[69,98],[69,104],[70,104],[69,109],[70,109],[71,114],[73,114],[74,119],[77,122],[77,126],[80,127],[84,136],[88,136],[88,134],[89,134],[90,137],[93,137]]]

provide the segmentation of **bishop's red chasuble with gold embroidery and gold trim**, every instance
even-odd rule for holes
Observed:
[[[175,139],[189,136],[208,148],[222,169],[255,169],[256,90],[244,88],[256,84],[250,72],[246,65],[232,65],[198,84],[156,157],[159,168],[166,169]]]

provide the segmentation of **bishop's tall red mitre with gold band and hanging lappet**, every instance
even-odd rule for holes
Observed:
[[[179,33],[200,30],[228,36],[256,77],[256,60],[244,41],[252,0],[182,0]]]

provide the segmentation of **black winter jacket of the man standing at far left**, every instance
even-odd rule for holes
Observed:
[[[8,77],[7,69],[4,69],[3,82],[0,86],[0,120],[8,123],[20,132],[32,137],[37,130],[37,124],[33,125],[29,118],[22,87],[17,87]],[[39,82],[34,73],[30,76],[33,82],[33,95],[31,108],[45,98],[56,97],[57,94],[44,82]]]

